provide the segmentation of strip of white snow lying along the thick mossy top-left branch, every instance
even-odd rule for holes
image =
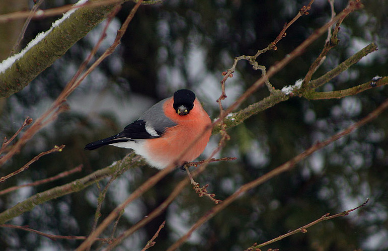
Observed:
[[[79,2],[74,4],[74,6],[79,6],[79,5],[85,4],[86,2],[88,2],[88,0],[80,0]],[[0,73],[3,73],[8,68],[10,68],[16,62],[16,60],[21,58],[29,49],[31,49],[33,46],[35,46],[37,43],[39,43],[43,38],[45,38],[47,36],[47,34],[49,34],[54,27],[57,27],[65,19],[70,17],[70,15],[75,12],[75,10],[76,9],[71,9],[70,11],[66,12],[65,14],[63,14],[62,18],[56,20],[51,25],[51,28],[48,31],[39,33],[33,40],[31,40],[27,44],[27,46],[21,52],[12,55],[9,58],[4,59],[3,62],[0,63]]]

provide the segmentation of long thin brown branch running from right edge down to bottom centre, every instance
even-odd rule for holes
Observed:
[[[235,193],[230,195],[228,198],[226,198],[222,203],[214,206],[212,209],[210,209],[207,213],[205,213],[195,224],[192,225],[192,227],[189,229],[189,231],[179,238],[173,245],[171,245],[168,249],[168,251],[177,249],[180,245],[183,244],[184,241],[186,241],[189,236],[193,233],[194,230],[196,230],[198,227],[200,227],[202,224],[204,224],[206,221],[208,221],[210,218],[212,218],[214,215],[216,215],[218,212],[223,210],[225,207],[227,207],[230,203],[234,202],[237,198],[239,198],[242,194],[246,193],[248,190],[255,188],[264,182],[272,179],[275,176],[278,176],[281,173],[284,173],[286,171],[291,170],[296,163],[301,161],[302,159],[306,158],[307,156],[311,155],[312,153],[316,152],[319,149],[322,149],[323,147],[329,145],[330,143],[342,138],[343,136],[353,132],[360,126],[369,123],[373,119],[377,118],[377,116],[382,113],[385,109],[388,108],[388,99],[385,100],[377,109],[369,113],[367,116],[365,116],[362,120],[352,124],[342,132],[339,132],[330,138],[318,142],[312,147],[306,149],[302,153],[298,154],[297,156],[293,157],[289,161],[285,162],[284,164],[278,166],[274,170],[270,171],[269,173],[261,176],[260,178],[251,181],[243,186],[241,186]]]

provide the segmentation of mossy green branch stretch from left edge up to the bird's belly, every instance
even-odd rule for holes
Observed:
[[[136,168],[144,164],[145,162],[140,156],[135,156],[135,154],[132,153],[131,155],[126,156],[122,160],[115,162],[107,168],[98,170],[88,176],[85,176],[84,178],[67,183],[63,186],[55,187],[42,193],[35,194],[23,202],[16,204],[15,206],[0,213],[0,224],[4,224],[5,222],[27,211],[31,211],[35,206],[40,205],[46,201],[64,196],[66,194],[79,192],[102,179],[117,174],[118,169],[121,169],[119,173],[122,173],[129,170],[130,168]]]

